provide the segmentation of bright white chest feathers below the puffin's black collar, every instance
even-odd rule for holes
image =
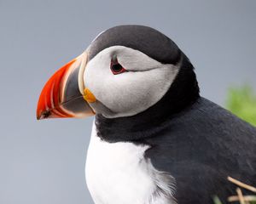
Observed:
[[[169,191],[172,195],[172,188],[168,188],[170,179],[144,159],[147,149],[146,145],[104,142],[96,137],[93,127],[85,176],[96,204],[173,203],[166,197]],[[166,195],[155,193],[159,188],[167,190]]]

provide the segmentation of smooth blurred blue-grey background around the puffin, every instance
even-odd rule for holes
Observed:
[[[256,87],[256,1],[0,0],[0,203],[92,203],[84,181],[92,118],[36,121],[44,82],[120,24],[171,37],[201,94],[224,105],[230,85]]]

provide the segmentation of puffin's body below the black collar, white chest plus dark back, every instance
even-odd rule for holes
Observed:
[[[256,179],[255,136],[254,127],[204,98],[136,142],[101,139],[94,125],[87,184],[96,203],[203,204],[212,195],[225,201],[236,194],[227,176]]]

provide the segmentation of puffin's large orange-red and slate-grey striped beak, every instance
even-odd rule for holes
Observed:
[[[49,78],[38,99],[38,120],[44,118],[85,117],[95,113],[84,99],[83,75],[86,51]]]

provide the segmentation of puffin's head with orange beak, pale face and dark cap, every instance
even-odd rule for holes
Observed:
[[[198,94],[189,59],[160,31],[115,26],[49,78],[38,100],[37,117],[136,116],[167,93],[172,110]]]

